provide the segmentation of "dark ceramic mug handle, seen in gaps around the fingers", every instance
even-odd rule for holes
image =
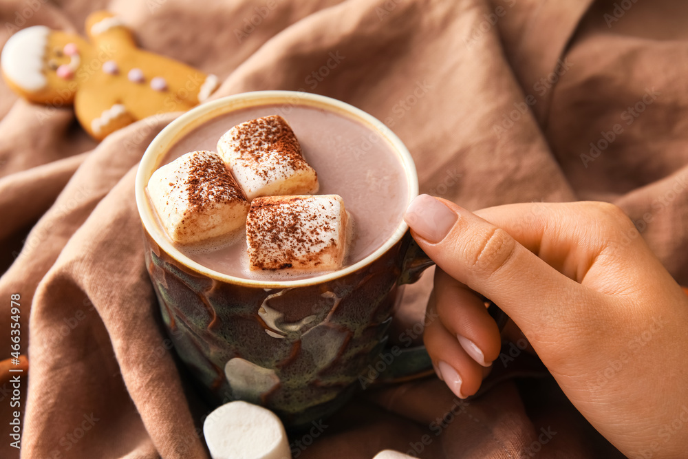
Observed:
[[[399,285],[413,284],[413,282],[420,279],[420,275],[422,275],[424,270],[435,264],[430,257],[425,255],[410,233],[407,233],[405,237],[408,237],[410,242],[402,262]],[[508,316],[489,299],[483,297],[483,300],[485,301],[488,314],[497,322],[499,331],[502,331],[506,321],[508,321]],[[396,347],[398,348],[398,346]],[[389,345],[387,348],[389,348]],[[432,360],[424,345],[400,349],[393,355],[395,356],[394,361],[385,367],[385,371],[380,373],[373,385],[403,383],[435,373],[432,367]]]

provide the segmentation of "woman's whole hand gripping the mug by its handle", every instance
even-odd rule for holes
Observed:
[[[475,394],[499,356],[482,294],[623,453],[685,457],[688,298],[619,208],[534,203],[471,213],[421,195],[405,220],[438,265],[429,307],[439,319],[426,324],[424,341],[455,394]]]

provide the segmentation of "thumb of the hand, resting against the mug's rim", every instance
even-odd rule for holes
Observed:
[[[526,335],[578,328],[583,311],[577,305],[599,295],[559,273],[504,229],[447,200],[420,195],[404,218],[418,245],[445,273],[494,301]],[[543,330],[542,325],[553,326]]]

